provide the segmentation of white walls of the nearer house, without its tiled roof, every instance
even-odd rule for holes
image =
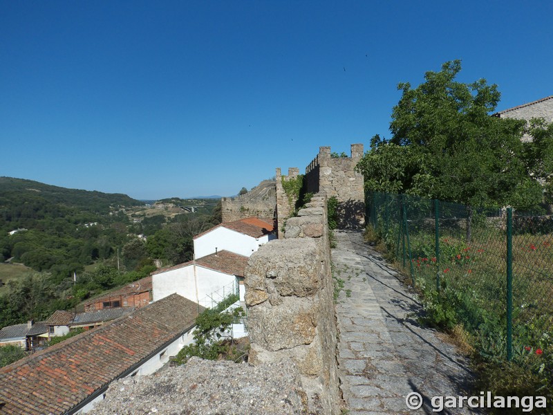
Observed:
[[[196,268],[196,278],[194,278],[194,268]],[[193,302],[198,302],[198,300],[205,299],[208,295],[235,282],[234,275],[190,264],[176,270],[153,275],[153,301],[177,293]]]

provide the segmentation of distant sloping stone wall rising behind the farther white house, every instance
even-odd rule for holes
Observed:
[[[277,192],[272,180],[264,180],[250,192],[235,198],[221,199],[223,222],[239,221],[256,216],[258,218],[274,218],[277,205]]]

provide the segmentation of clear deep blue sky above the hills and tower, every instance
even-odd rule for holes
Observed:
[[[553,95],[552,1],[0,1],[0,176],[232,195],[389,136],[462,59],[498,110]]]

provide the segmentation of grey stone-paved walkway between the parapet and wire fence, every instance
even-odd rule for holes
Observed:
[[[336,305],[338,363],[348,414],[478,413],[467,408],[433,412],[433,396],[467,395],[467,360],[436,331],[416,322],[420,304],[361,232],[335,234],[333,272],[344,280]],[[413,392],[422,396],[418,410],[406,406]]]

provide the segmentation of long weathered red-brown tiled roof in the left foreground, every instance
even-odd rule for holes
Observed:
[[[0,368],[0,412],[71,411],[191,329],[203,309],[172,294]]]

